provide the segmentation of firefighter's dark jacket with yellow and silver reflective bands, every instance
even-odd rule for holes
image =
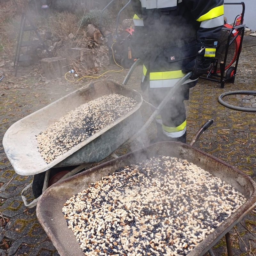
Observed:
[[[132,0],[131,3],[135,36],[139,38],[139,29],[147,35],[147,42],[144,39],[137,42],[147,48],[143,75],[149,77],[150,88],[173,86],[185,75],[181,70],[197,55],[215,57],[224,23],[223,0]],[[191,80],[185,83],[188,82]]]

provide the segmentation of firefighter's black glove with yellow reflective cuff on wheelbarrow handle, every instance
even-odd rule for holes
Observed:
[[[192,70],[190,79],[194,80],[210,70],[211,63],[215,57],[217,43],[218,41],[214,39],[204,40],[204,44],[202,44],[196,56],[195,67]]]

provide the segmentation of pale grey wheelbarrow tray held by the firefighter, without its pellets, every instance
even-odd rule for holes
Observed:
[[[69,111],[103,95],[117,93],[136,100],[138,104],[122,117],[71,148],[49,164],[37,148],[36,135]],[[53,103],[12,124],[3,138],[4,151],[15,172],[34,175],[53,167],[96,163],[119,148],[142,126],[139,92],[111,80],[87,84]]]

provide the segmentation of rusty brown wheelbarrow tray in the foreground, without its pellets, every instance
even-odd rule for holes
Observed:
[[[62,213],[64,203],[76,193],[88,188],[91,183],[100,180],[103,176],[113,173],[126,165],[136,164],[158,155],[187,159],[189,162],[210,172],[213,176],[226,181],[247,199],[243,206],[237,209],[236,212],[223,221],[218,228],[189,252],[189,256],[204,255],[230,228],[254,209],[256,186],[254,181],[244,172],[190,145],[180,142],[159,142],[95,166],[63,181],[58,181],[45,190],[37,203],[36,214],[46,234],[50,237],[61,256],[84,255],[74,233],[67,227],[67,222]]]

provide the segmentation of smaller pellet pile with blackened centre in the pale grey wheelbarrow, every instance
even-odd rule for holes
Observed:
[[[50,163],[128,113],[136,104],[130,97],[112,93],[80,105],[36,135],[41,156]]]

